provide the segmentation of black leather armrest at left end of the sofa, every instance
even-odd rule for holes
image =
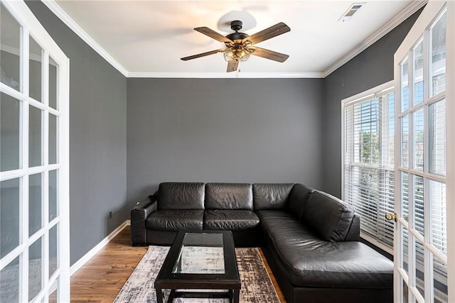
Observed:
[[[131,210],[131,243],[133,246],[147,245],[145,220],[158,206],[156,196],[151,195]]]

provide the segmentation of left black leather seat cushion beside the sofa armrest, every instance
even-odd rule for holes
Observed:
[[[146,228],[158,231],[202,230],[203,210],[157,210],[146,219]]]

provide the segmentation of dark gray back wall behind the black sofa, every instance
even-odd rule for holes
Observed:
[[[160,182],[321,188],[323,79],[127,80],[127,191]]]

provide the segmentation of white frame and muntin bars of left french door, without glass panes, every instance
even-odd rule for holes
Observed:
[[[4,270],[14,260],[18,260],[19,276],[19,302],[28,302],[29,297],[29,248],[41,242],[41,290],[31,298],[33,302],[48,302],[50,294],[57,292],[59,302],[69,301],[69,60],[58,48],[58,45],[45,32],[33,13],[23,1],[1,0],[1,9],[6,9],[20,26],[19,49],[8,49],[17,55],[20,62],[20,87],[17,91],[6,84],[0,84],[0,91],[18,100],[19,104],[19,167],[0,173],[0,181],[18,180],[19,184],[19,245],[11,250],[0,260],[0,270]],[[40,45],[41,57],[30,55],[29,39]],[[4,50],[2,45],[2,50]],[[57,65],[58,87],[56,97],[57,109],[48,104],[49,97],[49,58]],[[41,60],[41,101],[29,97],[29,60]],[[31,106],[41,112],[41,165],[28,167],[29,163],[29,109]],[[56,131],[50,140],[49,116],[55,116]],[[56,163],[49,163],[49,142],[55,141],[53,150],[57,150]],[[57,182],[58,215],[49,221],[49,172],[55,171]],[[33,234],[28,234],[28,201],[29,177],[39,174],[41,176],[41,228]],[[50,239],[51,230],[57,228],[57,238]],[[58,243],[58,266],[49,272],[49,246],[50,241]],[[56,284],[58,283],[58,284]]]

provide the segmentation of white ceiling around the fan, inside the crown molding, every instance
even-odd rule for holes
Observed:
[[[129,77],[232,77],[222,53],[182,61],[181,57],[223,48],[193,28],[222,35],[229,23],[244,22],[249,35],[279,22],[291,31],[257,46],[286,53],[279,63],[251,56],[240,75],[323,77],[390,31],[421,1],[365,2],[350,21],[338,19],[355,1],[67,1],[46,3],[82,38]],[[238,77],[238,75],[237,75]]]

